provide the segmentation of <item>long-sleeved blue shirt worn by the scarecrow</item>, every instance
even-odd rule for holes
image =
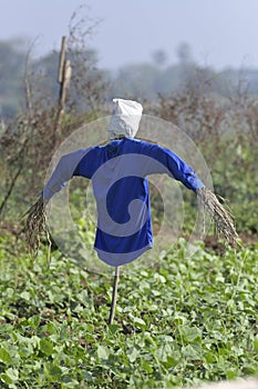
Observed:
[[[71,168],[65,169],[69,160]],[[79,163],[74,169],[75,161]],[[167,173],[194,192],[204,187],[195,171],[171,150],[124,138],[64,156],[43,193],[48,198],[72,176],[91,179],[97,207],[94,248],[103,261],[121,266],[153,246],[146,178],[152,173]]]

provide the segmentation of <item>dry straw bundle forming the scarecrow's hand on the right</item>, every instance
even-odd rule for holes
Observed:
[[[221,206],[218,197],[208,188],[199,189],[197,197],[215,222],[218,235],[228,243],[236,246],[238,235],[231,215]]]

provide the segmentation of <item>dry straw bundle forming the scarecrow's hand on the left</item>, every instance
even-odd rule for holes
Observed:
[[[45,233],[48,241],[50,242],[49,232],[47,229],[47,217],[43,197],[41,196],[38,201],[28,210],[25,221],[25,240],[33,257],[37,257],[40,239],[42,233]]]

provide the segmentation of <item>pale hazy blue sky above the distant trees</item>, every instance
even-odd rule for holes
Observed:
[[[100,64],[117,68],[164,50],[176,62],[180,42],[199,64],[258,68],[258,0],[0,0],[0,40],[37,40],[37,52],[60,46],[74,10],[101,19],[91,46]]]

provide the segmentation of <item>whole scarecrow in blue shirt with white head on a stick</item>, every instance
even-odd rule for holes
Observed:
[[[147,176],[166,173],[194,191],[211,215],[218,232],[230,243],[237,232],[227,210],[180,157],[157,143],[136,139],[143,107],[132,100],[114,99],[104,146],[79,149],[63,156],[42,196],[29,210],[28,242],[39,247],[40,232],[47,231],[44,208],[73,177],[92,180],[97,209],[94,249],[99,258],[115,268],[110,322],[113,321],[118,268],[153,247]]]

